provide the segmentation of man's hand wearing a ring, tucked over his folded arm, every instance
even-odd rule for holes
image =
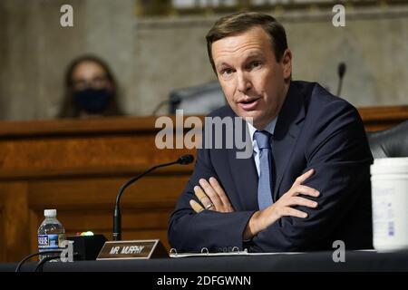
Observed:
[[[199,204],[194,199],[189,200],[189,205],[196,212],[201,212],[204,209],[219,211],[219,212],[232,212],[231,203],[224,189],[219,185],[219,181],[215,178],[210,178],[209,181],[206,179],[199,179],[199,186],[194,187],[194,193],[197,198],[199,198]],[[202,189],[204,189],[204,191]]]

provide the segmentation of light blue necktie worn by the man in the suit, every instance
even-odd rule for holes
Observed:
[[[270,164],[272,150],[270,147],[271,134],[267,131],[256,131],[254,139],[259,149],[259,181],[257,183],[257,204],[259,209],[272,205],[272,189],[270,182]]]

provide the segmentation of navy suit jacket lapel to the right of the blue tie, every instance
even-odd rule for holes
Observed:
[[[287,164],[295,149],[297,136],[299,135],[302,121],[305,119],[304,96],[296,87],[296,83],[291,82],[287,92],[287,98],[278,114],[277,125],[275,127],[272,140],[272,152],[274,158],[273,170],[275,179],[274,201],[277,201],[277,193],[282,182]]]

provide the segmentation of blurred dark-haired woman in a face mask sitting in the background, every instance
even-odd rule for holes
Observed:
[[[109,66],[93,55],[83,55],[68,66],[65,95],[59,118],[122,115],[117,102],[117,83]]]

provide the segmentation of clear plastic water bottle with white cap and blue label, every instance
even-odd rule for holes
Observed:
[[[44,210],[44,221],[38,228],[38,249],[40,252],[46,250],[61,249],[61,243],[65,240],[65,229],[56,219],[56,209]],[[40,260],[46,256],[58,256],[58,254],[41,255]],[[59,261],[55,259],[52,261]]]

